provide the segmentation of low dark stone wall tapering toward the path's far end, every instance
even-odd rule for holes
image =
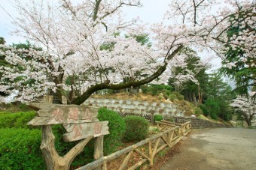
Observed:
[[[176,123],[183,124],[186,121],[191,121],[192,128],[206,128],[206,127],[232,127],[230,124],[219,124],[212,121],[206,121],[200,118],[181,118],[173,117]]]

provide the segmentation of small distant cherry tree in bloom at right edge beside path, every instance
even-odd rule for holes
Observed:
[[[252,95],[251,95],[252,96]],[[236,112],[242,115],[248,126],[251,126],[251,121],[254,119],[256,112],[256,103],[252,97],[239,96],[230,104]]]

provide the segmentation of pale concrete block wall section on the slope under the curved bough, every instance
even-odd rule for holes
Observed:
[[[136,114],[136,115],[172,115],[172,116],[184,116],[184,111],[177,109],[173,103],[157,103],[147,102],[140,100],[115,100],[115,99],[96,99],[89,98],[84,103],[86,106],[98,106],[106,107],[120,113],[120,115]]]

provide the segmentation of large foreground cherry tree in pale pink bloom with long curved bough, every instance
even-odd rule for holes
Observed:
[[[139,0],[15,1],[20,16],[14,18],[14,34],[43,50],[24,49],[20,51],[23,55],[14,48],[6,51],[5,60],[14,67],[1,67],[0,91],[19,91],[16,100],[20,101],[34,100],[52,91],[60,103],[64,96],[69,104],[81,104],[102,89],[135,88],[158,78],[167,81],[166,67],[184,46],[213,49],[221,54],[220,45],[230,43],[251,52],[250,57],[255,56],[254,34],[245,32],[246,38],[242,34],[239,42],[224,36],[230,26],[229,16],[248,11],[254,4],[242,1],[241,9],[233,1],[226,1],[231,8],[213,15],[211,7],[215,4],[204,0],[172,1],[166,13],[170,24],[160,22],[148,28],[138,19],[127,21],[123,17],[122,7],[139,7]],[[150,34],[151,46],[125,34]],[[110,48],[102,48],[108,45]],[[26,55],[31,58],[26,59]],[[123,82],[127,77],[129,81]],[[19,81],[14,81],[17,78]]]

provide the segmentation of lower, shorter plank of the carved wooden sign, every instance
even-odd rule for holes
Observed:
[[[88,136],[98,137],[108,135],[108,121],[98,121],[86,124],[63,124],[67,133],[63,135],[65,142],[78,141]]]

